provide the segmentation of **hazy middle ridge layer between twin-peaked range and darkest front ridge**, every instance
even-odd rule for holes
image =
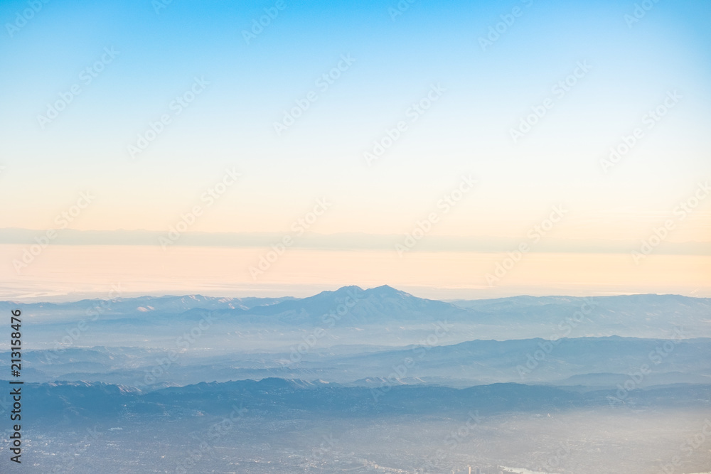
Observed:
[[[303,347],[301,347],[303,349]],[[23,354],[28,382],[93,380],[149,391],[174,384],[266,377],[321,379],[380,387],[397,384],[523,384],[633,388],[711,383],[711,339],[563,338],[473,340],[454,345],[333,347],[303,355],[161,348],[67,348]],[[0,353],[0,368],[9,364]],[[6,367],[9,370],[9,367]]]

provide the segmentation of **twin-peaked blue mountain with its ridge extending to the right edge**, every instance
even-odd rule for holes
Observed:
[[[204,317],[193,309],[183,318]],[[390,286],[363,290],[346,286],[309,298],[283,301],[249,309],[216,310],[211,314],[237,323],[358,326],[378,324],[428,324],[438,321],[466,325],[505,326],[525,333],[533,326],[550,327],[557,337],[582,325],[589,335],[648,335],[674,325],[711,327],[711,299],[677,295],[632,295],[577,298],[570,296],[516,296],[494,300],[446,303],[412,296]],[[597,334],[596,334],[597,333]],[[705,335],[706,333],[702,334]],[[518,336],[520,337],[520,336]]]

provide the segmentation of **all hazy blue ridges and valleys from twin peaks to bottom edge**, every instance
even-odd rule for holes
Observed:
[[[0,303],[23,312],[28,465],[141,473],[701,472],[710,306],[389,286]]]

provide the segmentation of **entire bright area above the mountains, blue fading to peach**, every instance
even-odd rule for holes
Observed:
[[[8,296],[93,291],[101,259],[205,290],[186,245],[232,256],[220,291],[711,296],[707,1],[245,3],[0,4]],[[550,278],[496,276],[522,244]]]

